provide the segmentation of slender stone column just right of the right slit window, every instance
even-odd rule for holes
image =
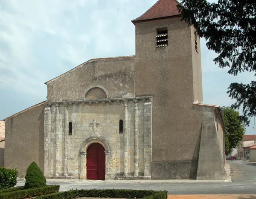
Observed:
[[[124,176],[128,176],[128,100],[124,100],[125,104],[125,122],[123,128],[124,134]]]

